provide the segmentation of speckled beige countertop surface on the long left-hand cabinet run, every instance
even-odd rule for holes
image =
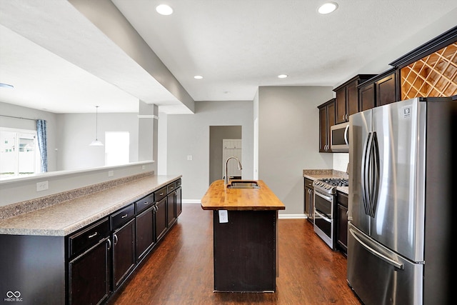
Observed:
[[[0,234],[66,236],[128,206],[180,176],[146,176],[43,209],[0,219]]]

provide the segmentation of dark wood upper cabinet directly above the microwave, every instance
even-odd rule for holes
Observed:
[[[358,74],[333,89],[336,92],[335,124],[349,121],[349,116],[359,111],[358,85],[367,79],[371,79],[373,76],[375,74]]]

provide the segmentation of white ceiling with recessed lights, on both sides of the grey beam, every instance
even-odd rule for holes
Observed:
[[[251,101],[258,86],[334,87],[389,69],[457,25],[456,0],[334,1],[337,11],[319,15],[323,0],[112,0],[194,101]],[[156,14],[161,3],[174,14]],[[0,0],[0,82],[14,85],[0,88],[0,101],[55,113],[136,112],[139,99],[189,113],[61,0]]]

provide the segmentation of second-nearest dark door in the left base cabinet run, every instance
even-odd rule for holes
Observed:
[[[135,219],[113,233],[113,284],[114,290],[134,269],[135,256]]]

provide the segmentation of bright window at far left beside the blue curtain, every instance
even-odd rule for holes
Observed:
[[[0,128],[0,178],[39,172],[36,131]]]

